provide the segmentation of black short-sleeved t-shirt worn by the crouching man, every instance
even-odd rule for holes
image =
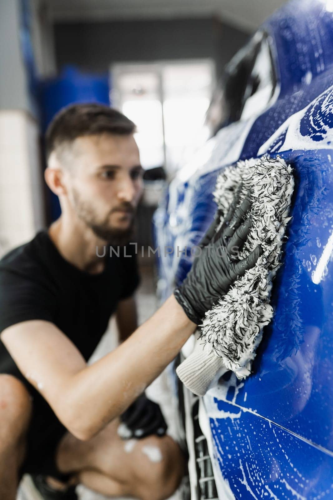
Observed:
[[[65,260],[46,230],[0,260],[0,332],[15,323],[44,319],[54,323],[87,360],[106,330],[119,300],[139,283],[134,245],[120,247],[99,274]],[[124,256],[130,255],[129,257]],[[0,341],[0,372],[8,353]]]

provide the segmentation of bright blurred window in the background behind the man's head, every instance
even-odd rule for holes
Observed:
[[[165,166],[172,176],[205,143],[213,80],[206,59],[112,67],[112,104],[137,125],[144,168]]]

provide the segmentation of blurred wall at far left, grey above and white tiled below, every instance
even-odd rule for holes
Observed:
[[[19,43],[18,0],[0,1],[0,255],[44,225],[39,127]]]

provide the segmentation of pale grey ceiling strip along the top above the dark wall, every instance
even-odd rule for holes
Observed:
[[[218,16],[254,31],[286,0],[45,0],[56,22]]]

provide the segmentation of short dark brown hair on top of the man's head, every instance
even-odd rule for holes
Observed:
[[[46,158],[60,144],[82,135],[111,133],[130,135],[135,124],[124,114],[103,104],[70,104],[54,116],[45,134]]]

